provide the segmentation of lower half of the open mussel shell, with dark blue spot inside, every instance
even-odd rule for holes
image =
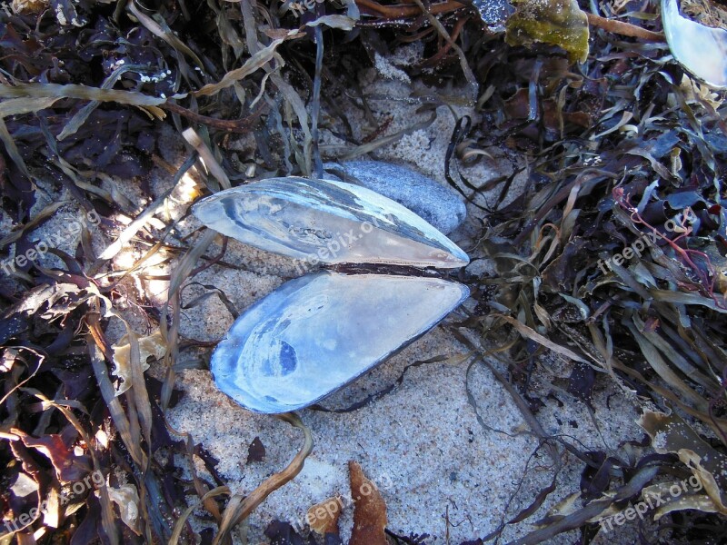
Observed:
[[[234,322],[214,351],[214,381],[251,411],[301,409],[413,342],[468,295],[439,278],[308,274]]]

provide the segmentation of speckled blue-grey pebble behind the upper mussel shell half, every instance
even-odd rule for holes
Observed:
[[[324,179],[357,183],[389,197],[444,234],[459,227],[467,214],[451,187],[398,164],[383,161],[324,163]]]

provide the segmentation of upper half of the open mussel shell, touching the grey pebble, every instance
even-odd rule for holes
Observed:
[[[456,268],[467,254],[421,217],[351,183],[289,176],[207,197],[194,215],[215,231],[308,263]]]

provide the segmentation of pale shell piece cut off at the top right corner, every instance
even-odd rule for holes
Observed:
[[[727,31],[700,25],[679,13],[677,0],[662,0],[662,25],[674,58],[705,84],[727,88]]]

